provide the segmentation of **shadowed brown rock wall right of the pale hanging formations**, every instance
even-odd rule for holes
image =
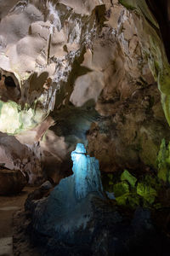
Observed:
[[[141,13],[137,16],[116,2],[105,6],[107,27],[93,39],[82,62],[91,72],[75,81],[70,98],[74,107],[52,113],[57,123],[52,130],[70,147],[87,143],[101,171],[156,168],[161,138],[169,140],[169,128],[148,59],[148,34],[139,24],[146,31],[152,28]]]

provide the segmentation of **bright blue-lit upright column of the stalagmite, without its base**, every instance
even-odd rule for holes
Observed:
[[[100,179],[99,160],[87,155],[86,148],[82,143],[78,143],[77,148],[72,151],[71,159],[77,199],[86,197],[89,192],[101,193],[103,187]]]

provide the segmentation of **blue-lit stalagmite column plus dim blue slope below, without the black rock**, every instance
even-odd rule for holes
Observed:
[[[32,201],[26,209],[33,210],[33,229],[40,236],[54,234],[57,241],[74,244],[80,235],[77,243],[83,244],[83,239],[90,241],[93,236],[93,227],[88,230],[94,215],[93,201],[104,199],[104,195],[98,160],[86,156],[80,143],[71,158],[73,175],[63,178],[48,198]],[[82,231],[84,234],[80,234]]]

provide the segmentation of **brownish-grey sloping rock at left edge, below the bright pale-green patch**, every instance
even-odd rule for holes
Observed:
[[[20,170],[29,183],[41,183],[43,179],[38,146],[20,143],[14,136],[0,133],[0,163],[11,170]],[[14,171],[11,171],[14,172]]]

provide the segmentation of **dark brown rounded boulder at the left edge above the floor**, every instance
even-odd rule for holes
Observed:
[[[0,195],[20,193],[26,183],[26,177],[19,170],[0,170]]]

